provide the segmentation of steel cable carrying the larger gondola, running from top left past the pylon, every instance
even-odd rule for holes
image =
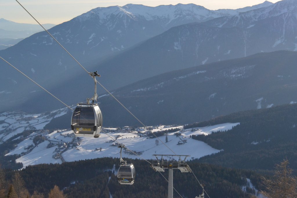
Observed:
[[[18,0],[15,0],[15,1],[17,1],[18,2],[18,4],[20,4],[20,2],[18,1]],[[23,7],[23,5],[22,4],[20,4],[20,6],[21,7]],[[26,10],[26,8],[25,7],[23,7],[23,9],[24,10]],[[41,25],[41,23],[39,23],[31,14],[30,14],[30,12],[28,11],[28,10],[26,10],[26,12],[28,12],[28,14],[67,52],[67,54],[69,54],[69,56],[71,56],[74,60],[75,60],[75,62],[77,62],[78,63],[78,65],[80,65],[80,67],[82,67],[83,68],[83,70],[85,70],[88,74],[90,74],[90,72],[88,72],[64,47],[63,47],[63,45],[61,45],[61,43],[59,43],[57,40],[56,40],[56,38],[55,37],[53,37],[53,35],[51,35],[50,34],[50,32],[48,32],[48,30],[46,30],[42,25]],[[144,125],[134,114],[132,114],[132,112],[131,111],[129,111],[118,99],[116,99],[116,97],[112,94],[112,93],[110,93],[101,83],[99,83],[97,80],[96,80],[96,82],[103,88],[103,89],[105,89],[105,91],[107,91],[108,92],[108,94],[109,95],[111,95],[119,104],[121,104],[121,106],[123,106],[124,107],[124,109],[126,109],[136,120],[138,120],[138,122],[140,122],[140,124],[141,125],[143,125],[144,126],[144,128],[146,128],[146,130],[148,130],[148,128],[147,128],[147,126],[146,125]],[[149,130],[148,130],[149,131]],[[177,155],[172,149],[170,149],[161,139],[159,139],[153,132],[151,132],[160,142],[162,142],[162,144],[164,144],[172,153],[174,153],[175,155]],[[105,133],[106,134],[106,133]],[[193,171],[192,171],[192,173],[193,173]],[[195,174],[193,173],[193,175],[195,176]],[[197,177],[195,176],[195,178],[196,178],[196,180],[198,181],[198,183],[200,184],[200,182],[199,182],[199,180],[197,179]],[[200,186],[201,186],[201,184],[200,184]],[[201,186],[202,187],[202,186]],[[206,191],[205,191],[205,193],[206,193]],[[207,193],[206,193],[207,194]],[[207,194],[207,196],[208,196],[208,194]],[[209,197],[209,196],[208,196]],[[209,197],[210,198],[210,197]]]

